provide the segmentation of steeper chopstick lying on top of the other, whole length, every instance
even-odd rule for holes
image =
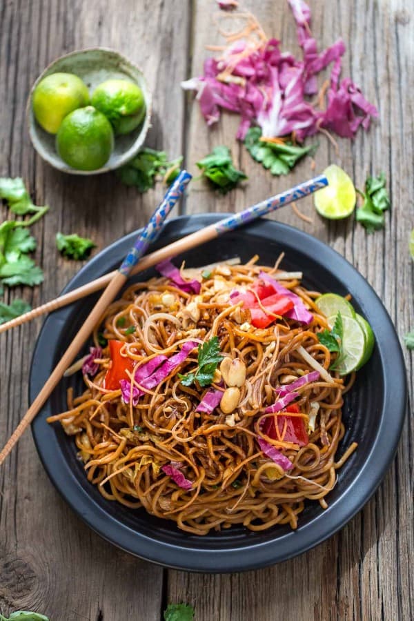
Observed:
[[[13,446],[17,444],[21,435],[30,425],[43,404],[45,404],[46,400],[48,400],[48,397],[50,397],[53,389],[61,380],[66,368],[72,364],[73,360],[79,353],[79,350],[88,337],[90,337],[95,325],[99,322],[99,319],[101,319],[101,316],[106,310],[106,307],[112,302],[117,293],[119,293],[119,290],[126,283],[132,268],[137,264],[139,258],[146,252],[150,243],[159,235],[162,225],[164,224],[164,220],[175,206],[177,199],[184,192],[184,188],[190,179],[191,175],[186,172],[186,170],[181,170],[177,179],[173,181],[172,186],[170,186],[163,201],[161,201],[161,204],[159,204],[155,212],[152,214],[148,225],[138,235],[134,246],[132,246],[130,252],[126,255],[124,262],[121,264],[119,269],[115,271],[112,278],[110,278],[108,286],[103,291],[101,297],[99,297],[97,303],[92,308],[92,311],[90,311],[86,321],[83,323],[70,346],[59,360],[57,366],[55,366],[55,369],[46,381],[46,384],[44,384],[39,395],[37,395],[34,399],[34,402],[31,404],[30,408],[28,408],[28,411],[10,436],[10,439],[0,453],[0,465],[4,462],[10,451],[12,451]]]

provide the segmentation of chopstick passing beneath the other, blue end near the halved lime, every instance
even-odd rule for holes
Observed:
[[[304,184],[299,184],[299,186],[296,186],[292,190],[288,190],[285,193],[250,207],[242,211],[242,213],[231,215],[224,220],[220,220],[217,224],[212,224],[203,230],[197,231],[197,233],[187,235],[186,237],[179,239],[177,242],[174,242],[165,248],[160,248],[160,250],[156,250],[154,253],[143,257],[139,263],[132,268],[130,275],[138,274],[139,272],[155,266],[164,259],[168,259],[174,255],[178,255],[181,252],[190,250],[190,248],[194,248],[199,244],[204,244],[205,242],[218,237],[222,233],[225,233],[226,230],[233,230],[242,224],[246,224],[259,216],[266,215],[279,207],[283,207],[284,205],[311,194],[320,188],[324,188],[327,185],[328,181],[326,180],[326,177],[323,177],[322,175],[315,177],[315,179],[306,181]],[[15,319],[10,319],[10,322],[5,322],[0,325],[0,333],[8,331],[10,328],[21,326],[21,324],[26,324],[26,322],[30,322],[35,317],[40,317],[46,313],[57,311],[58,308],[62,308],[67,304],[72,304],[72,302],[77,302],[78,299],[86,297],[86,295],[96,293],[100,289],[103,289],[103,287],[106,287],[112,278],[115,277],[116,273],[117,270],[114,270],[113,272],[92,280],[92,282],[88,282],[87,284],[69,291],[68,293],[59,295],[59,297],[50,300],[50,302],[46,302],[45,304],[41,304],[41,306],[37,306],[37,308],[33,308],[32,311],[28,311],[28,313],[23,313],[23,315],[19,315],[19,317],[16,317]]]

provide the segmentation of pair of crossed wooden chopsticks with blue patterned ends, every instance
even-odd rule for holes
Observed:
[[[239,228],[239,226],[248,224],[248,222],[266,215],[278,208],[284,207],[285,205],[312,194],[328,185],[328,179],[326,179],[323,175],[319,175],[319,177],[305,181],[303,184],[299,184],[298,186],[295,186],[282,194],[271,197],[266,201],[262,201],[253,207],[249,207],[241,213],[230,215],[230,217],[224,218],[216,224],[211,224],[210,226],[206,226],[206,228],[197,230],[195,233],[191,233],[182,239],[178,239],[177,242],[173,242],[172,244],[169,244],[164,248],[160,248],[159,250],[155,250],[155,252],[150,255],[143,257],[144,253],[146,253],[146,250],[148,249],[148,246],[154,242],[159,233],[161,233],[164,220],[166,219],[168,213],[170,213],[170,210],[172,210],[175,206],[175,203],[179,197],[182,193],[184,193],[184,189],[190,179],[191,175],[186,172],[186,170],[182,170],[166,193],[161,204],[152,214],[146,228],[144,228],[137,237],[135,245],[131,248],[128,255],[126,255],[124,262],[118,270],[110,272],[109,274],[79,287],[66,295],[61,295],[52,302],[43,304],[43,306],[39,306],[39,308],[36,308],[29,313],[25,313],[24,315],[21,315],[21,317],[17,317],[17,319],[13,319],[11,322],[7,322],[6,324],[3,324],[3,326],[0,326],[0,332],[6,331],[8,328],[28,322],[33,317],[38,317],[43,313],[55,311],[57,308],[61,308],[61,306],[70,304],[70,302],[75,302],[78,299],[81,299],[90,293],[95,293],[95,291],[106,286],[101,297],[99,297],[97,303],[92,308],[92,311],[90,311],[86,321],[83,323],[79,332],[72,340],[72,343],[59,360],[59,363],[55,369],[52,371],[52,374],[46,381],[46,384],[44,384],[39,395],[37,395],[34,399],[28,408],[28,411],[19,422],[19,425],[10,436],[10,439],[4,446],[3,450],[0,452],[0,465],[4,462],[4,460],[6,460],[6,457],[10,451],[12,451],[14,445],[17,444],[21,435],[23,435],[23,432],[30,425],[37,413],[39,413],[46,400],[48,400],[48,397],[50,397],[50,394],[61,380],[63,373],[66,371],[68,366],[72,364],[83,344],[85,344],[95,326],[99,323],[99,320],[101,319],[101,316],[105,312],[107,306],[113,301],[113,299],[115,299],[119,293],[119,290],[121,290],[124,286],[130,275],[142,272],[152,266],[155,266],[157,263],[164,261],[164,259],[169,259],[179,253],[186,252],[187,250],[190,250],[190,248],[195,248],[200,244],[210,242],[212,239],[215,239],[220,235],[224,235],[224,233],[227,233],[230,230],[235,230],[236,228]]]

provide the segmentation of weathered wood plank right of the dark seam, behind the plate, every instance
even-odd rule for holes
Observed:
[[[366,175],[384,170],[393,207],[385,230],[374,235],[368,235],[352,219],[323,221],[315,215],[311,199],[298,206],[313,217],[313,224],[298,220],[288,209],[279,212],[277,219],[328,242],[351,261],[373,285],[403,335],[414,326],[413,264],[408,254],[408,235],[414,226],[414,115],[412,100],[406,96],[414,87],[413,7],[406,0],[310,4],[317,40],[327,45],[339,36],[344,38],[348,47],[344,75],[352,75],[362,86],[368,99],[379,107],[381,119],[369,134],[359,134],[353,144],[339,141],[339,157],[321,137],[316,170],[336,162],[360,187]],[[295,27],[285,2],[246,1],[243,6],[255,12],[266,34],[282,39],[284,49],[295,49]],[[204,50],[206,43],[220,42],[210,12],[207,1],[196,3],[191,75],[199,74],[209,53]],[[188,161],[203,157],[217,144],[226,144],[249,176],[244,188],[227,197],[213,195],[201,185],[197,191],[193,189],[187,201],[189,213],[240,210],[312,174],[306,161],[288,177],[275,179],[264,172],[236,144],[237,120],[231,115],[224,115],[208,130],[195,105],[189,110],[189,122]],[[406,350],[405,356],[413,395],[413,363]],[[379,491],[335,537],[299,559],[263,571],[221,577],[170,572],[170,600],[195,603],[197,621],[276,621],[287,614],[295,619],[324,621],[413,618],[413,577],[409,570],[414,551],[412,460],[413,427],[408,420],[397,459]]]

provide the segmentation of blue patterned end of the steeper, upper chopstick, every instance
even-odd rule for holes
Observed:
[[[189,183],[192,175],[186,170],[181,170],[177,179],[172,181],[170,188],[168,188],[164,199],[150,217],[148,224],[137,237],[134,246],[130,249],[128,255],[126,255],[124,262],[119,268],[119,272],[124,276],[128,276],[130,270],[137,264],[139,259],[146,253],[148,246],[155,242],[159,233],[161,233],[162,227],[166,217],[177,204],[178,199],[183,195],[187,184]]]

